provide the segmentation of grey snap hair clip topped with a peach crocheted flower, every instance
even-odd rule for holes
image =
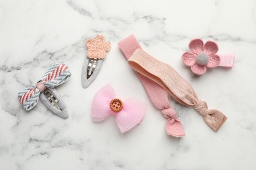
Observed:
[[[110,50],[110,42],[104,41],[103,35],[96,35],[95,39],[88,39],[85,42],[87,47],[87,58],[83,63],[82,86],[87,88],[95,80],[100,71],[103,59]]]

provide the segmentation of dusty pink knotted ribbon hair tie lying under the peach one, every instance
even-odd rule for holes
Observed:
[[[140,44],[136,41],[133,35],[123,39],[123,41],[118,42],[118,45],[127,59],[131,57],[135,50],[141,49]],[[153,105],[157,109],[160,109],[163,116],[167,118],[165,123],[165,131],[167,134],[175,137],[184,136],[185,133],[179,118],[177,118],[177,113],[175,109],[169,105],[168,93],[150,78],[141,75],[138,72],[136,73],[137,76],[139,76],[140,81],[148,93]]]

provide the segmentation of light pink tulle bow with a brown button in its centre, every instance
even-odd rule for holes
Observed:
[[[124,133],[140,124],[145,111],[146,103],[135,98],[121,101],[116,98],[111,84],[107,84],[95,94],[91,116],[93,121],[100,122],[113,114],[121,133]]]

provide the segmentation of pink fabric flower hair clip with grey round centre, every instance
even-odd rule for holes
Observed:
[[[216,42],[207,41],[203,44],[201,39],[194,39],[188,45],[191,52],[182,55],[182,61],[196,75],[203,75],[207,67],[217,66],[233,67],[234,54],[217,54],[219,48]]]

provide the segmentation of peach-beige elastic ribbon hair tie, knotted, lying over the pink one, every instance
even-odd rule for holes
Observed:
[[[123,40],[121,48],[129,48],[138,43],[133,35]],[[120,46],[119,44],[119,46]],[[125,47],[123,47],[125,46]],[[123,50],[122,50],[123,51]],[[125,50],[124,50],[125,51]],[[206,124],[217,131],[226,121],[226,116],[219,110],[209,110],[205,101],[198,99],[192,86],[170,65],[158,61],[141,48],[132,52],[129,65],[141,75],[153,80],[165,89],[176,101],[188,107],[194,107],[203,116]]]

